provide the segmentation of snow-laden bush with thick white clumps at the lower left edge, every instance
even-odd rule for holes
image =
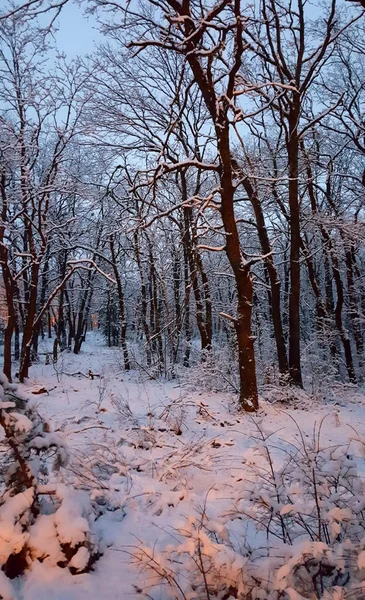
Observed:
[[[57,483],[68,460],[62,439],[4,376],[0,446],[0,598],[10,600],[10,580],[32,560],[79,573],[91,566],[98,548],[88,495]]]

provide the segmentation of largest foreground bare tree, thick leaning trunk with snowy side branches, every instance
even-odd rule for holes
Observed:
[[[102,3],[108,5],[108,3]],[[110,5],[111,6],[111,5]],[[156,14],[154,14],[154,8]],[[234,323],[239,355],[240,400],[245,410],[255,410],[258,406],[255,372],[254,339],[251,333],[252,260],[245,256],[240,244],[234,213],[236,174],[232,167],[230,141],[231,115],[235,115],[235,95],[237,75],[241,67],[244,44],[242,40],[243,20],[241,2],[223,0],[213,7],[204,7],[199,2],[186,1],[180,4],[175,0],[152,3],[144,11],[125,11],[131,24],[141,25],[142,39],[130,42],[131,47],[140,52],[147,47],[159,47],[184,57],[192,73],[192,84],[196,85],[204,99],[214,128],[214,144],[217,150],[217,163],[199,165],[214,169],[219,186],[211,195],[210,205],[218,195],[224,232],[224,248],[230,262],[237,290],[237,315],[229,317]],[[166,23],[166,25],[165,25]],[[151,36],[144,35],[145,25]],[[135,32],[137,34],[138,25]],[[185,161],[186,167],[194,167],[196,161]],[[167,167],[176,170],[177,165]],[[162,171],[166,167],[162,165]],[[160,166],[161,172],[161,166]],[[218,203],[217,203],[218,204]]]

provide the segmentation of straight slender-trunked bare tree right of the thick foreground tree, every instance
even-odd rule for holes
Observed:
[[[311,127],[335,108],[316,115],[308,112],[310,92],[331,59],[341,35],[359,18],[349,17],[337,27],[336,0],[326,8],[323,21],[314,29],[305,3],[278,5],[265,0],[262,19],[244,32],[244,40],[262,60],[262,69],[250,75],[242,70],[243,82],[252,90],[257,81],[261,102],[274,111],[274,120],[285,136],[290,225],[289,371],[294,384],[302,385],[300,357],[300,141]],[[257,87],[257,86],[256,86]]]

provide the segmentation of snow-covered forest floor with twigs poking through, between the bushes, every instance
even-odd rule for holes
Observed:
[[[188,379],[151,381],[143,373],[126,374],[120,365],[119,351],[106,348],[93,334],[79,356],[63,353],[56,366],[32,366],[22,386],[29,395],[39,387],[48,390],[32,397],[69,447],[65,481],[90,490],[100,506],[95,528],[103,551],[94,570],[82,575],[71,575],[47,559],[34,561],[16,583],[23,600],[140,599],[141,590],[148,591],[154,582],[151,569],[144,568],[146,563],[151,566],[152,555],[160,574],[161,569],[171,577],[180,572],[191,583],[196,561],[192,558],[190,564],[186,556],[196,557],[198,534],[205,553],[220,552],[222,577],[227,579],[224,569],[233,577],[267,539],[266,531],[257,531],[241,507],[247,490],[257,499],[257,489],[252,492],[256,467],[266,469],[268,464],[263,438],[268,439],[274,465],[319,440],[322,448],[343,444],[361,473],[363,447],[351,442],[365,437],[365,396],[358,390],[339,388],[337,397],[327,402],[302,395],[295,408],[262,399],[259,413],[250,416],[237,412],[229,394],[191,389]],[[99,377],[78,374],[89,369]],[[272,400],[273,394],[267,397]],[[210,537],[202,537],[208,529]],[[174,562],[164,562],[177,549]],[[264,555],[256,565],[260,575],[268,568]],[[174,596],[164,585],[149,597],[207,597],[188,595],[184,589]],[[269,598],[265,593],[254,597]],[[290,596],[301,597],[306,596]],[[356,597],[365,598],[365,591]]]

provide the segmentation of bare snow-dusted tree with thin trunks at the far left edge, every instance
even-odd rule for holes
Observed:
[[[42,264],[58,227],[48,221],[56,193],[64,185],[65,150],[77,133],[83,100],[76,65],[60,64],[53,78],[44,72],[46,39],[15,15],[1,23],[2,126],[7,131],[7,165],[2,168],[2,268],[9,294],[18,280],[24,294],[20,379],[28,376],[38,322]],[[15,252],[9,256],[9,243]],[[44,298],[42,299],[44,301]],[[5,369],[10,375],[10,306]]]

